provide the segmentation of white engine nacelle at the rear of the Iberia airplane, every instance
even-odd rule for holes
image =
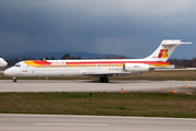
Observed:
[[[147,72],[150,70],[150,68],[148,64],[145,63],[124,63],[124,70],[138,73],[138,72]]]

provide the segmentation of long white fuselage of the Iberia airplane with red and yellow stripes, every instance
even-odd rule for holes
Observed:
[[[138,59],[110,60],[28,60],[16,63],[4,74],[10,76],[123,75],[147,72],[169,62]]]

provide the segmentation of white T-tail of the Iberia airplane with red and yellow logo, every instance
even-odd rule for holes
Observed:
[[[182,43],[181,39],[170,39],[162,40],[160,46],[147,58],[150,61],[167,61],[168,58],[172,55],[174,49],[181,44],[192,44],[192,43]]]

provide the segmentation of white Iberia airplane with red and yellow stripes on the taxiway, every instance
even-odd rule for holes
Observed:
[[[170,67],[166,62],[173,50],[182,43],[179,39],[162,40],[160,46],[144,59],[101,59],[101,60],[27,60],[17,62],[3,73],[13,76],[100,76],[100,82],[108,82],[108,76],[137,74],[155,68]]]

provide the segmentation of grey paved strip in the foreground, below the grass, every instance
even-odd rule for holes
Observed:
[[[0,114],[1,131],[194,131],[195,123],[182,118]]]

